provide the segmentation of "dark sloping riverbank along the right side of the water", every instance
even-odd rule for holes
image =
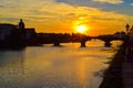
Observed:
[[[109,68],[104,72],[103,81],[99,88],[123,88],[122,64],[125,57],[125,43],[120,46]]]

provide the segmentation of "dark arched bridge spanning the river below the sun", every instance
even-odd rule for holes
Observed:
[[[99,35],[99,36],[88,36],[84,34],[50,34],[39,36],[39,44],[53,44],[54,46],[60,46],[60,43],[81,43],[81,47],[85,47],[85,43],[92,38],[101,40],[104,42],[104,46],[110,47],[112,41],[124,41],[125,37],[119,37],[114,35]]]

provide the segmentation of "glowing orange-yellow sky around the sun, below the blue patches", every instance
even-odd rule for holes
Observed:
[[[55,0],[13,1],[1,3],[0,23],[17,24],[19,19],[23,19],[27,28],[35,28],[37,32],[73,33],[73,26],[85,24],[90,28],[85,32],[88,35],[110,34],[125,31],[125,24],[133,22],[130,14],[96,7],[73,6]]]

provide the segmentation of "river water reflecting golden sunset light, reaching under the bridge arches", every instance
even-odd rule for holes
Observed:
[[[99,88],[116,46],[101,41],[0,51],[0,88]]]

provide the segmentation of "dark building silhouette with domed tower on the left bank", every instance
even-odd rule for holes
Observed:
[[[0,47],[23,47],[32,45],[37,40],[34,29],[25,29],[22,19],[18,25],[0,23]]]

